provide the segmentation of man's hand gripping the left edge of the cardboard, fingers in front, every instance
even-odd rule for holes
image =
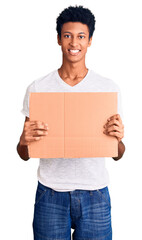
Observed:
[[[28,146],[31,142],[39,141],[48,134],[48,124],[41,121],[30,121],[26,119],[22,135],[20,137],[20,145]]]

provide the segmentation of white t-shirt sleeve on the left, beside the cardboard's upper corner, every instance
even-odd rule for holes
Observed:
[[[36,92],[35,82],[31,83],[27,87],[26,93],[25,93],[25,96],[24,96],[24,100],[23,100],[23,108],[22,108],[21,112],[27,117],[29,117],[29,95],[30,95],[30,92]]]

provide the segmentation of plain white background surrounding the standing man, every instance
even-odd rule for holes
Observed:
[[[50,4],[49,4],[50,3]],[[121,89],[126,152],[106,160],[114,240],[142,239],[142,15],[138,0],[5,0],[0,3],[0,228],[1,239],[31,240],[38,159],[25,162],[16,146],[25,120],[27,86],[61,65],[56,17],[82,4],[96,17],[87,67]]]

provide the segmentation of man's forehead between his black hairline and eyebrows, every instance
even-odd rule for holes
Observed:
[[[71,33],[80,33],[84,32],[85,34],[89,34],[89,29],[86,24],[81,22],[67,22],[62,26],[62,33],[71,32]]]

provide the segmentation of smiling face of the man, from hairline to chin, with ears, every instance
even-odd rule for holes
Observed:
[[[91,42],[88,26],[80,22],[64,23],[61,39],[58,36],[58,44],[61,46],[63,58],[69,62],[85,60],[87,48],[90,47]]]

